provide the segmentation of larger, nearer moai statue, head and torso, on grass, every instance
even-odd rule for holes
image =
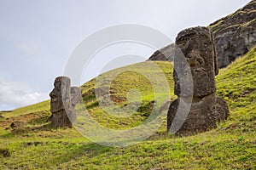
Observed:
[[[193,27],[178,33],[174,56],[174,94],[167,131],[181,135],[205,132],[229,116],[224,99],[216,96],[218,63],[212,32]],[[188,107],[189,105],[189,107]],[[187,114],[184,107],[188,107]]]

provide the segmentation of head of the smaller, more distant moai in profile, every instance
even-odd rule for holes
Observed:
[[[55,88],[49,94],[52,113],[64,110],[70,105],[70,79],[68,77],[56,77],[54,85]]]

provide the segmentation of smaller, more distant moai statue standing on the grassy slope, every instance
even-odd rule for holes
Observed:
[[[81,91],[77,87],[70,87],[69,77],[56,77],[55,88],[50,92],[49,117],[52,127],[72,127],[77,121],[75,105],[79,103]]]

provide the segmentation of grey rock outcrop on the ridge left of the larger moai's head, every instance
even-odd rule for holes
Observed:
[[[164,48],[156,50],[148,60],[160,60],[160,61],[173,61],[174,58],[175,44],[172,43]]]

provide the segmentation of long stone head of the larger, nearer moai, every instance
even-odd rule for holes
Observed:
[[[189,28],[178,33],[176,44],[174,94],[184,97],[202,97],[214,93],[218,64],[212,32],[207,27]],[[193,87],[186,87],[189,81],[189,71]],[[192,94],[190,88],[193,88]]]

